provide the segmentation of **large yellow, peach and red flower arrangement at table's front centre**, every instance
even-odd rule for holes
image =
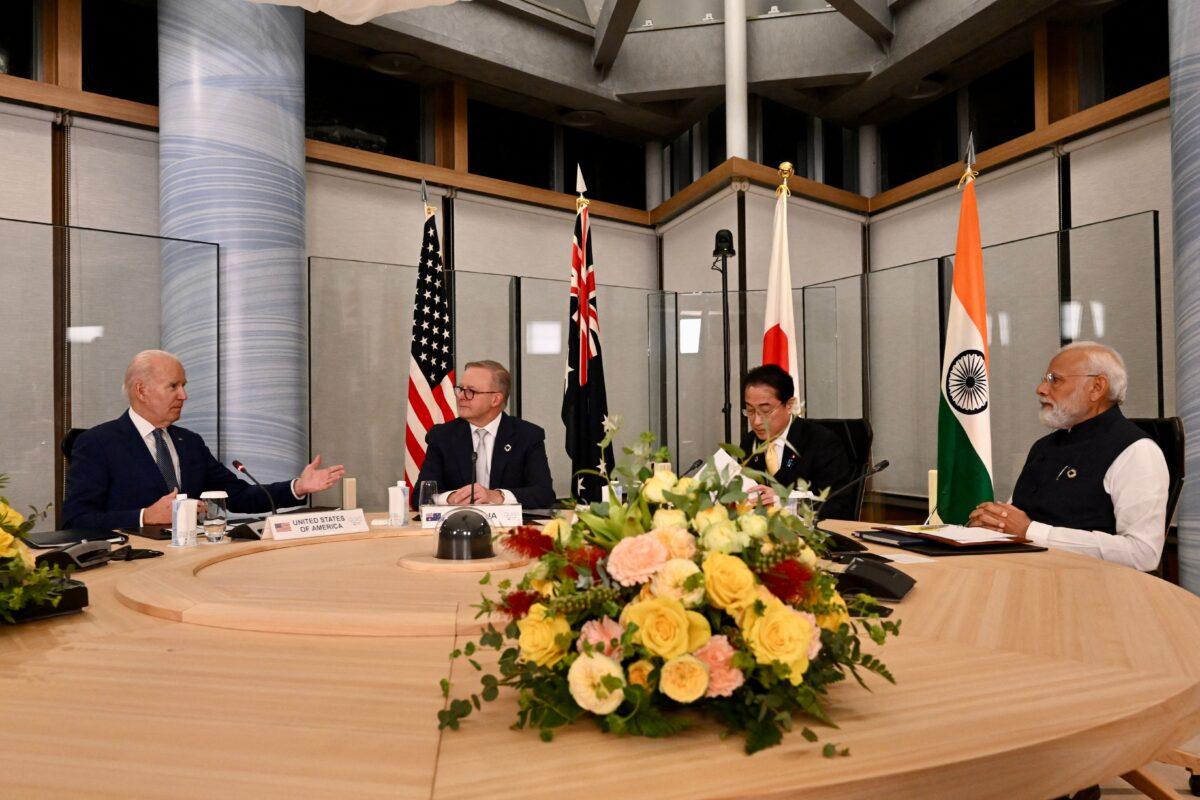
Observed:
[[[511,687],[514,727],[536,728],[546,741],[581,717],[610,733],[666,736],[691,724],[694,710],[743,735],[754,753],[779,744],[797,714],[835,727],[822,699],[847,675],[864,686],[864,673],[892,680],[860,634],[882,644],[899,625],[881,620],[870,597],[838,593],[836,575],[820,565],[828,536],[811,505],[757,505],[739,477],[724,480],[712,464],[700,479],[655,473],[666,451],[653,443],[644,434],[625,450],[632,464],[604,476],[610,497],[618,480],[630,487],[626,501],[502,537],[538,560],[520,583],[500,581],[498,594],[485,594],[480,615],[510,621],[490,621],[478,644],[451,654],[480,673],[480,688],[449,699],[443,680],[439,728],[457,729]],[[744,462],[742,473],[787,495]],[[478,660],[481,650],[497,651],[494,670]],[[818,740],[808,727],[800,733]],[[848,754],[833,742],[822,752]]]

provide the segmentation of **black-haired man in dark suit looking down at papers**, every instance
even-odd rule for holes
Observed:
[[[793,414],[796,384],[774,363],[764,363],[746,373],[742,381],[742,415],[750,420],[750,433],[742,450],[750,452],[769,441],[766,452],[754,456],[746,465],[769,474],[784,486],[798,480],[808,482],[814,494],[824,488],[838,489],[853,477],[846,450],[828,428]],[[774,504],[774,491],[756,486],[763,503]],[[822,519],[851,519],[854,516],[851,492],[842,492],[817,511]]]

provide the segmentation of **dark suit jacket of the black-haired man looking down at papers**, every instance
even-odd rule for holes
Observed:
[[[785,445],[784,458],[779,471],[775,473],[775,480],[784,486],[791,487],[797,480],[804,479],[812,493],[820,494],[826,487],[838,489],[856,477],[841,440],[835,433],[816,422],[809,422],[803,417],[792,420],[792,427],[787,431],[787,443],[791,446]],[[745,452],[758,445],[761,440],[754,431],[742,439],[742,450]],[[755,456],[748,467],[766,471],[766,455]],[[817,513],[822,519],[852,519],[853,504],[853,491],[846,491],[822,506]]]

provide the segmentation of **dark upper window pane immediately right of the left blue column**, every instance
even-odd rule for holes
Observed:
[[[319,56],[305,58],[305,130],[310,139],[421,157],[421,91],[407,80]]]

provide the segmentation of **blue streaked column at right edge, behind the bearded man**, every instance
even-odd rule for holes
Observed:
[[[1170,0],[1171,174],[1175,206],[1175,397],[1186,474],[1200,475],[1200,6]],[[1180,583],[1200,594],[1200,481],[1183,483]]]

